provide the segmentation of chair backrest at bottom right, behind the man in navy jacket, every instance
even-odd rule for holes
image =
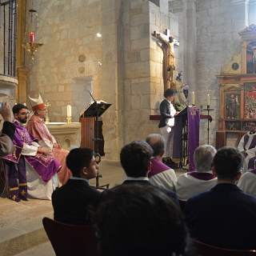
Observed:
[[[256,255],[256,250],[228,250],[222,249],[215,246],[207,245],[203,242],[198,242],[194,239],[191,239],[192,244],[196,249],[198,256],[252,256]]]

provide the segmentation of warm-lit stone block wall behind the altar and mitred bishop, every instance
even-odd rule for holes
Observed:
[[[92,101],[87,90],[102,99],[102,39],[96,35],[102,26],[102,1],[34,1],[34,9],[39,16],[34,40],[44,45],[32,66],[26,62],[30,97],[40,93],[50,102],[50,122],[66,122],[67,105],[72,106],[72,121],[78,122]]]

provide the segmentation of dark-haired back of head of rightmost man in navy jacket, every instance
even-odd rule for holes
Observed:
[[[214,170],[218,179],[233,180],[241,171],[244,157],[241,152],[229,146],[224,146],[214,155]]]

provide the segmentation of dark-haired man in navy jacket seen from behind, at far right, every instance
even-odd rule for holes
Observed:
[[[256,250],[256,198],[235,185],[243,159],[234,147],[222,147],[214,155],[218,184],[186,202],[192,238],[225,249]]]

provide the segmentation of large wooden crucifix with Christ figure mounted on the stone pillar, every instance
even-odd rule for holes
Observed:
[[[170,36],[170,30],[166,29],[165,34],[154,31],[154,36],[165,43],[164,49],[164,90],[170,88],[170,83],[174,79],[175,56],[174,44],[178,45],[178,41]]]

